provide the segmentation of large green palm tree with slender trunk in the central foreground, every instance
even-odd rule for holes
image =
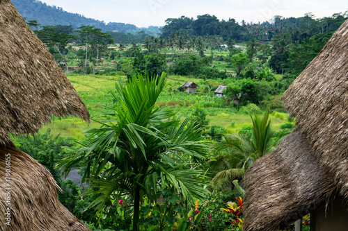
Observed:
[[[92,181],[101,195],[90,204],[102,211],[110,199],[130,192],[134,199],[133,230],[139,230],[142,196],[157,200],[157,190],[174,188],[182,200],[193,202],[208,194],[200,169],[207,157],[202,130],[190,118],[180,121],[173,110],[155,107],[166,84],[166,74],[143,80],[133,76],[127,85],[116,85],[115,120],[86,131],[85,146],[74,151],[65,166],[84,166],[83,180]]]

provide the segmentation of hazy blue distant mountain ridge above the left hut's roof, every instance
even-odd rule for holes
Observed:
[[[78,28],[82,25],[95,26],[101,28],[102,31],[114,31],[122,33],[136,33],[141,31],[133,24],[125,24],[120,22],[109,22],[105,24],[103,21],[86,18],[77,13],[70,13],[57,6],[48,6],[38,0],[11,0],[22,17],[28,20],[36,20],[40,26],[56,26],[56,25],[72,25]],[[150,26],[152,30],[154,26]]]

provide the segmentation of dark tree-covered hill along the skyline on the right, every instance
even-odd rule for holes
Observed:
[[[284,18],[276,15],[271,22],[249,24],[244,20],[238,23],[235,19],[219,20],[214,15],[198,15],[197,19],[189,17],[166,19],[162,28],[163,36],[170,37],[173,33],[196,36],[217,35],[223,40],[232,39],[237,42],[255,40],[271,40],[275,35],[290,33],[292,41],[303,40],[317,33],[335,31],[347,19],[347,12],[337,13],[331,17],[315,19],[315,15],[307,13],[303,17]]]

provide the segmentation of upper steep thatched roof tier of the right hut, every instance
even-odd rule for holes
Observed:
[[[284,106],[348,196],[348,21],[294,80]]]

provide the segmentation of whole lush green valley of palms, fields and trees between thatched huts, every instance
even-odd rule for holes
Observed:
[[[25,13],[91,122],[52,116],[14,143],[98,231],[242,230],[244,174],[295,129],[283,92],[348,19],[308,12],[251,24],[207,14],[141,29]],[[309,224],[303,216],[302,230]]]

